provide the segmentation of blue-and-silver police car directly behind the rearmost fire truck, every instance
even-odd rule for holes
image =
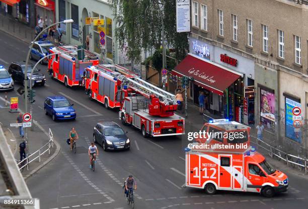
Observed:
[[[50,41],[35,41],[30,52],[30,59],[40,60],[49,53],[49,48],[53,46]],[[48,64],[48,57],[43,59],[41,64]]]

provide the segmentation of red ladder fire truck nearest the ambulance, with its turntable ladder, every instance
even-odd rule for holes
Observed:
[[[138,77],[123,79],[119,119],[141,129],[144,137],[184,134],[184,118],[176,110],[175,95]]]

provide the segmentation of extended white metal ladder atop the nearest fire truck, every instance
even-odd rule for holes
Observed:
[[[164,101],[165,104],[177,103],[175,95],[170,94],[169,92],[166,92],[154,85],[151,85],[146,81],[143,81],[142,79],[135,77],[133,79],[126,78],[125,80],[127,82],[127,85],[135,91],[139,91],[147,95],[155,95],[161,101]]]

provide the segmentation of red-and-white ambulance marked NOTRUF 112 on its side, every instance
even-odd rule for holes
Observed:
[[[239,124],[214,121],[210,126],[236,131]],[[230,190],[258,192],[265,197],[287,191],[287,175],[274,169],[255,148],[248,146],[249,138],[248,141],[244,140],[246,149],[233,148],[240,143],[223,144],[224,140],[228,139],[219,138],[218,142],[217,138],[211,137],[205,142],[209,145],[207,148],[199,149],[199,141],[192,143],[195,146],[190,145],[192,149],[185,149],[187,187],[204,189],[208,194],[215,194],[216,190]],[[229,148],[217,149],[217,144]]]

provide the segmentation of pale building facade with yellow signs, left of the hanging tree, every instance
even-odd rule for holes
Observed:
[[[116,24],[113,20],[113,8],[108,0],[56,0],[56,21],[73,19],[72,24],[61,24],[64,29],[62,40],[73,45],[84,45],[87,48],[87,36],[89,37],[89,50],[96,53],[105,63],[119,63],[119,50],[115,40]],[[103,19],[104,24],[94,26],[86,22],[86,18]],[[99,28],[105,30],[105,49],[100,47]]]

